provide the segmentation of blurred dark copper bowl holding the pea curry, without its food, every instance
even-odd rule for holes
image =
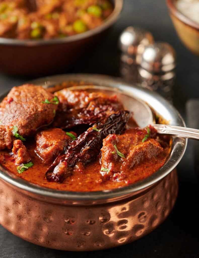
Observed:
[[[82,34],[49,40],[0,38],[0,70],[12,75],[35,76],[67,68],[85,54],[86,50],[96,47],[118,19],[123,0],[112,2],[114,11],[105,22]]]

